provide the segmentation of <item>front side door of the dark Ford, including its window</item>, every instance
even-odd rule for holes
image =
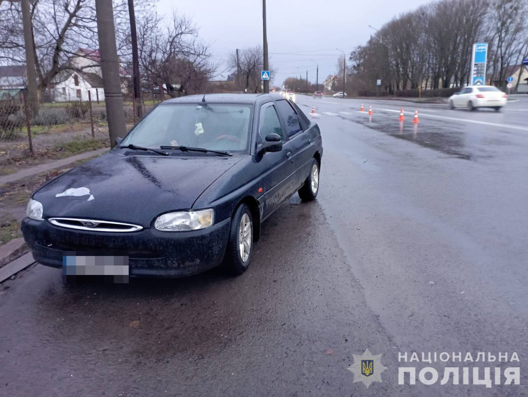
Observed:
[[[263,193],[259,198],[262,206],[262,219],[267,218],[295,191],[291,143],[286,138],[284,124],[278,117],[274,103],[268,102],[263,104],[260,109],[257,150],[267,135],[271,133],[276,133],[281,137],[282,150],[280,152],[260,153],[255,157],[259,163],[262,178],[260,186]]]

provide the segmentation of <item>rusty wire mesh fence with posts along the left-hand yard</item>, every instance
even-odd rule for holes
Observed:
[[[134,99],[124,106],[127,124],[134,125],[138,120]],[[145,105],[143,114],[155,103]],[[88,101],[31,103],[24,94],[20,98],[0,101],[0,141],[18,140],[26,136],[30,153],[33,152],[32,136],[42,132],[87,130],[95,138],[96,128],[107,128],[106,108],[103,102]]]

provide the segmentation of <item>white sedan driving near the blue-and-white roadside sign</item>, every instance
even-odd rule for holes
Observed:
[[[506,104],[508,95],[491,85],[474,85],[461,89],[449,97],[449,108],[493,108],[501,110]]]

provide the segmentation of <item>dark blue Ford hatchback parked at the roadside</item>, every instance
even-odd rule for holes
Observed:
[[[241,274],[261,222],[295,192],[315,199],[322,154],[318,125],[280,95],[168,100],[37,190],[22,231],[46,266],[89,253],[126,257],[136,276]]]

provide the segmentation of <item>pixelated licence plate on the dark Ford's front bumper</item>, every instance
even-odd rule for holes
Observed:
[[[128,256],[65,252],[62,256],[62,275],[105,276],[113,279],[115,283],[128,283]]]

